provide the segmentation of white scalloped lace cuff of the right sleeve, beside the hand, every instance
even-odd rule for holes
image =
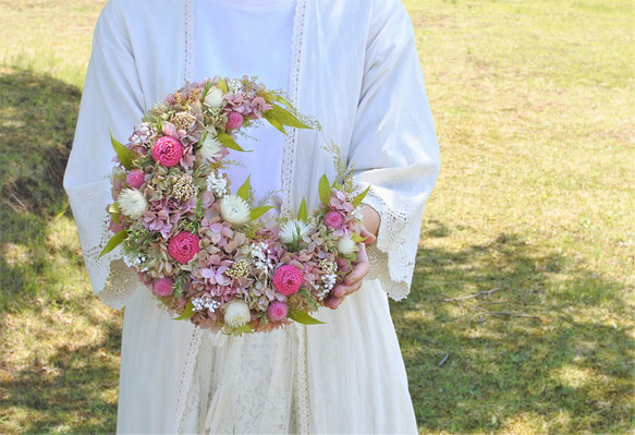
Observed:
[[[406,214],[389,207],[373,188],[364,203],[375,208],[381,217],[377,242],[368,247],[368,278],[379,279],[388,295],[400,301],[410,292],[415,269],[412,253],[416,252],[419,227],[408,222]]]

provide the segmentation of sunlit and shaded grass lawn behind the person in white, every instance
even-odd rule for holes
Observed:
[[[59,185],[102,4],[0,0],[0,433],[114,431],[121,315]],[[633,2],[405,5],[442,155],[391,305],[420,433],[635,433]]]

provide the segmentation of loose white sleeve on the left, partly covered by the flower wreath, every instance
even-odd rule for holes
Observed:
[[[120,250],[99,254],[112,235],[107,206],[112,202],[109,176],[114,137],[127,137],[143,116],[143,92],[119,2],[109,2],[99,17],[86,73],[73,149],[64,173],[73,217],[93,291],[115,307],[125,305],[138,280],[121,262]]]

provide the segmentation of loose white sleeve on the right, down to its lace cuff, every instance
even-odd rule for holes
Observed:
[[[376,1],[349,154],[365,203],[381,216],[369,247],[370,276],[389,295],[410,290],[424,205],[439,150],[410,17],[399,1]]]

